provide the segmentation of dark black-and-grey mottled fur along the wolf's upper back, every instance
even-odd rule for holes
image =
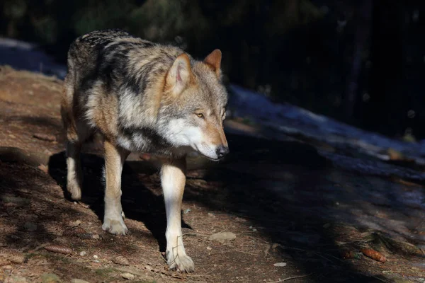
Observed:
[[[130,91],[141,94],[181,53],[177,47],[142,40],[124,30],[96,30],[69,47],[69,80],[82,89],[102,81],[108,91],[117,91],[125,83]]]

